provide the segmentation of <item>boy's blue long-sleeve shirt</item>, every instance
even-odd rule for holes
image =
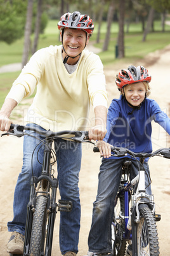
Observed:
[[[170,134],[170,118],[160,110],[159,104],[153,99],[145,99],[140,110],[131,113],[132,110],[122,95],[119,99],[112,100],[108,108],[107,134],[104,141],[114,146],[129,148],[136,153],[151,153],[152,120]]]

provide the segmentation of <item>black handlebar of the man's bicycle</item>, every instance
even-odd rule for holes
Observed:
[[[29,126],[24,126],[24,125],[18,125],[18,124],[11,124],[10,130],[4,134],[1,134],[1,136],[4,135],[13,135],[18,138],[24,136],[24,135],[29,135],[26,134],[25,131],[34,131],[37,132],[38,134],[44,135],[46,138],[64,138],[62,135],[74,135],[73,137],[68,137],[68,139],[72,139],[77,142],[89,142],[93,143],[92,141],[89,140],[88,138],[88,131],[59,131],[59,132],[53,132],[51,130],[48,131],[41,131],[39,128],[36,127],[29,127]],[[95,144],[95,143],[93,143]]]

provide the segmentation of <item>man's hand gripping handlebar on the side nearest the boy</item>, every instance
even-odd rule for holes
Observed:
[[[89,129],[89,139],[94,139],[95,141],[98,139],[102,140],[105,138],[105,134],[107,133],[107,129],[102,125],[95,125]]]

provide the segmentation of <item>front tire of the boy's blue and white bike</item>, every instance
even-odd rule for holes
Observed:
[[[147,204],[141,204],[140,223],[136,225],[138,255],[159,255],[159,238],[155,217]]]

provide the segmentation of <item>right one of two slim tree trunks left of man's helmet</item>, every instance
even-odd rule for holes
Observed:
[[[36,27],[34,31],[35,38],[34,38],[34,44],[32,46],[32,55],[36,52],[37,45],[38,45],[39,31],[40,31],[40,25],[41,25],[42,1],[43,0],[38,0],[37,2],[37,18],[36,18]]]

